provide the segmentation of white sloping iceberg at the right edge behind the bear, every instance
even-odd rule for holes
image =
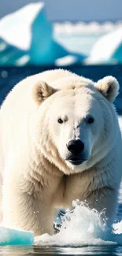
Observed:
[[[118,28],[98,39],[85,63],[122,63],[122,28]]]

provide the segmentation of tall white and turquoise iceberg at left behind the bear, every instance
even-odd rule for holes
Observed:
[[[75,54],[54,39],[43,2],[30,3],[0,20],[0,65],[54,65],[71,55]]]

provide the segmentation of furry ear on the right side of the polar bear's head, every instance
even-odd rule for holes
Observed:
[[[102,80],[98,80],[94,85],[102,95],[113,102],[119,92],[119,83],[113,76],[105,76]]]

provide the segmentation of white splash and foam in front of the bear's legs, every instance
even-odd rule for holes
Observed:
[[[72,246],[122,244],[122,222],[113,225],[113,231],[107,228],[105,211],[98,213],[86,203],[72,202],[73,212],[67,210],[59,233],[54,236],[44,234],[35,237],[35,245]]]

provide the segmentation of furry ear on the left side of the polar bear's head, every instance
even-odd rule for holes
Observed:
[[[41,102],[53,95],[54,92],[56,92],[56,90],[53,87],[50,87],[46,82],[39,81],[35,83],[32,94],[35,102],[40,105]]]

